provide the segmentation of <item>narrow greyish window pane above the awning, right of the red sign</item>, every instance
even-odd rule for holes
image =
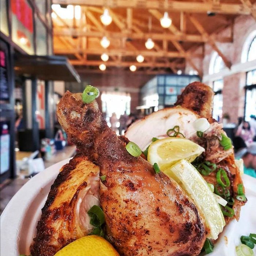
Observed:
[[[35,19],[35,33],[36,33],[36,54],[37,55],[47,55],[47,37],[46,29],[42,22],[36,18]]]

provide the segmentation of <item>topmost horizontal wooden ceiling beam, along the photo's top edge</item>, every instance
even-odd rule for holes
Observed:
[[[202,3],[201,1],[159,1],[159,0],[53,0],[53,4],[72,4],[86,6],[101,6],[109,8],[137,8],[137,9],[156,9],[168,10],[172,12],[193,12],[207,13],[207,11],[221,14],[244,14],[250,15],[252,8],[244,4],[211,2]]]

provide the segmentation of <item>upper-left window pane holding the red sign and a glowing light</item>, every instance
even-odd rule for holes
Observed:
[[[34,54],[33,14],[26,0],[12,0],[12,41],[29,54]]]

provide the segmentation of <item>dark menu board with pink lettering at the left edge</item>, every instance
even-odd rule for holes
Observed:
[[[0,50],[0,99],[9,100],[7,52],[2,48]]]

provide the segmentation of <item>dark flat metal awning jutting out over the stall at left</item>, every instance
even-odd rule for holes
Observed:
[[[81,82],[75,68],[63,56],[16,54],[14,71],[17,75],[34,76],[40,80]]]

